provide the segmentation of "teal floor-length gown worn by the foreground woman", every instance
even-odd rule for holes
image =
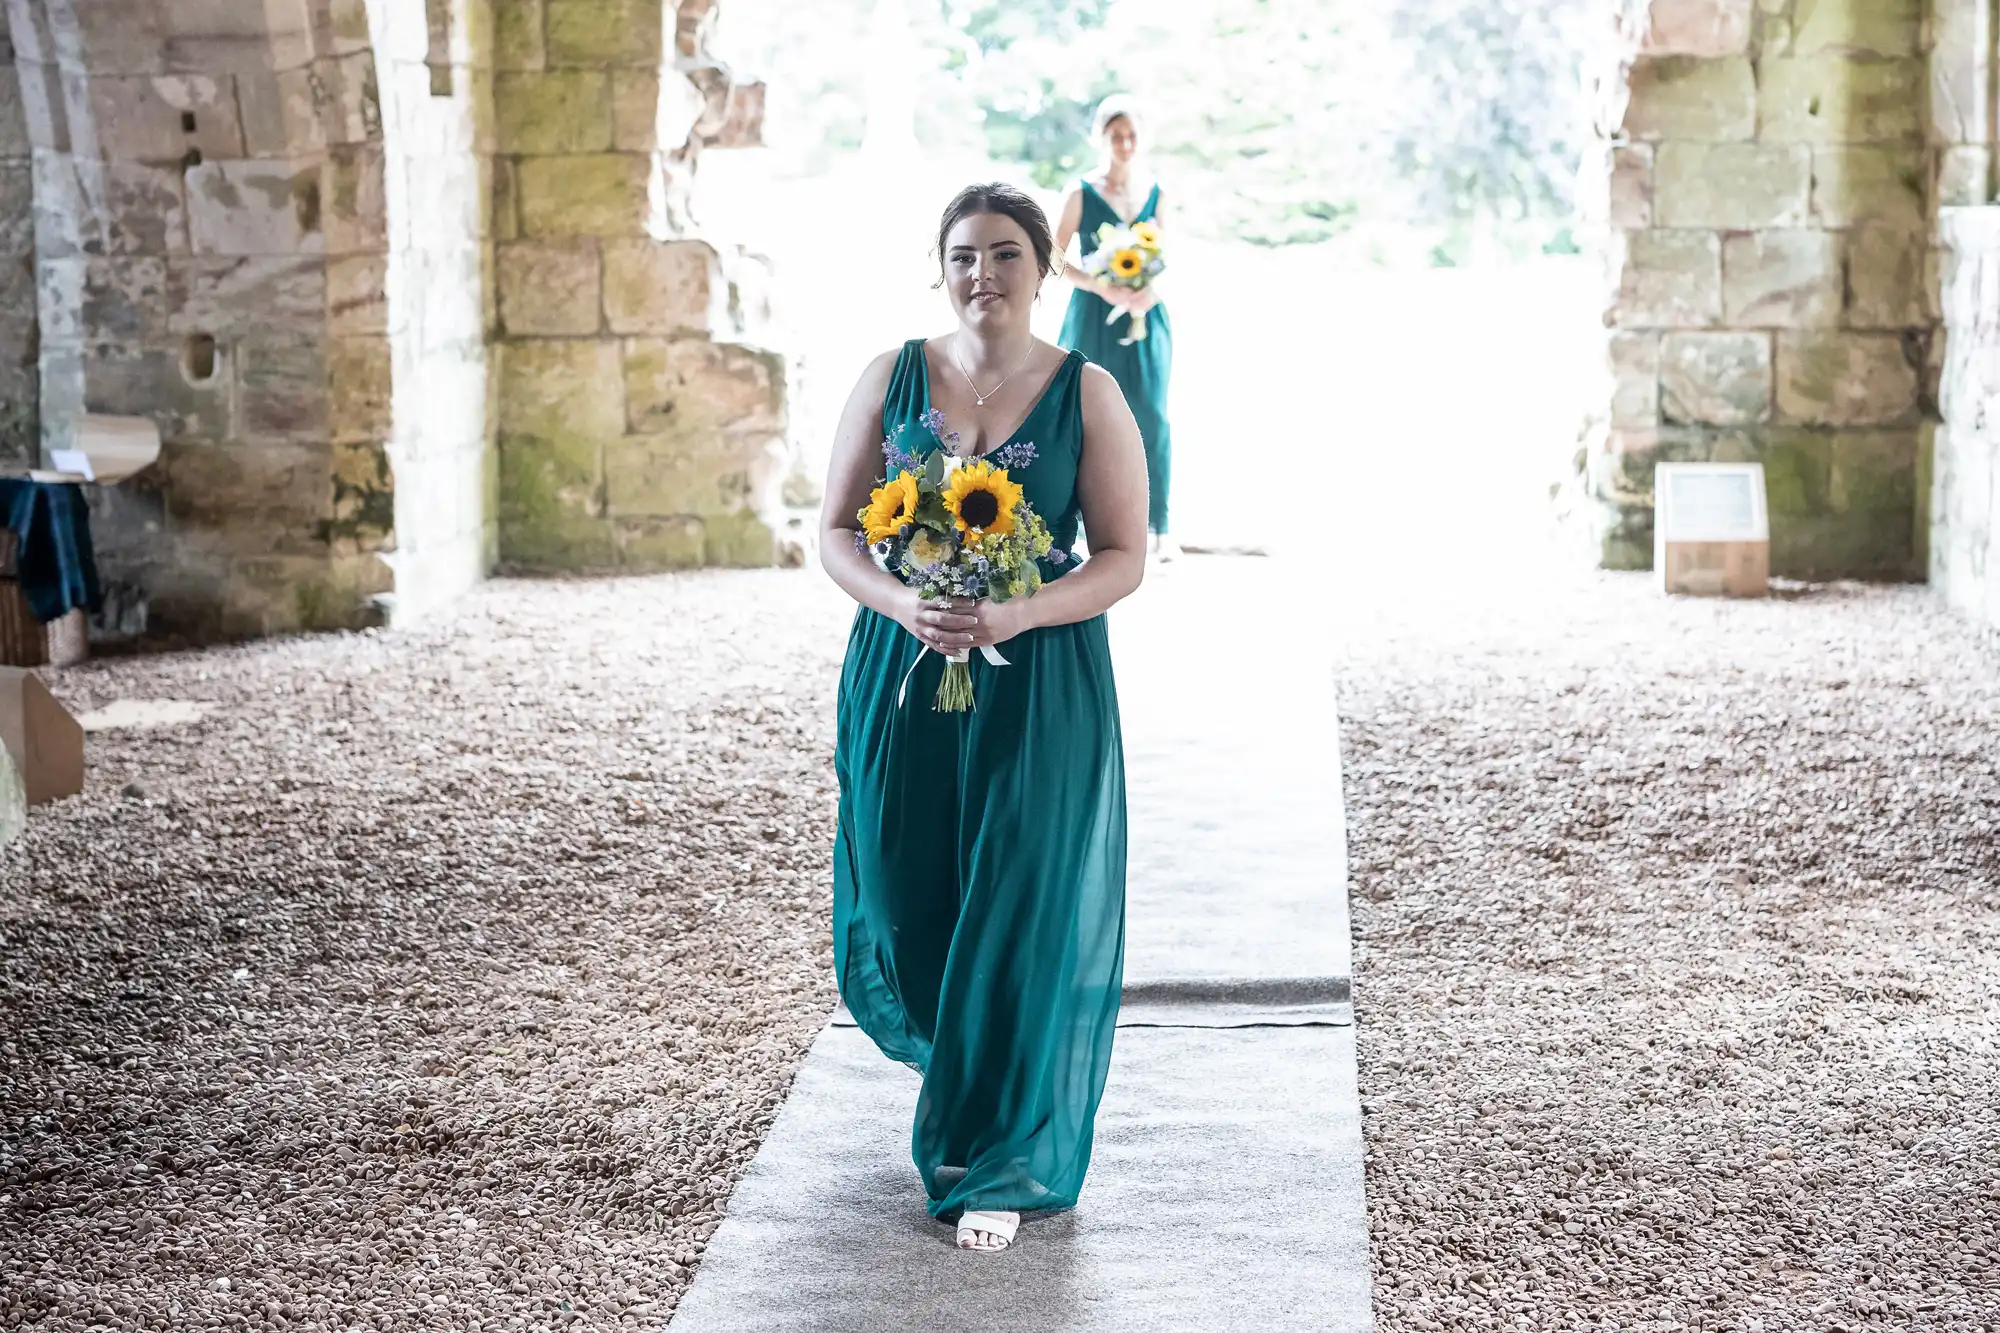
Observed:
[[[1054,556],[1078,528],[1082,370],[1070,352],[1008,440],[1034,444],[1008,474],[1056,540],[1050,580],[1076,566]],[[912,340],[882,428],[922,456],[926,410]],[[834,969],[860,1029],[924,1075],[910,1151],[932,1217],[1076,1203],[1118,1023],[1126,793],[1104,616],[1000,654],[972,654],[974,711],[938,713],[944,662],[862,606],[840,673]]]

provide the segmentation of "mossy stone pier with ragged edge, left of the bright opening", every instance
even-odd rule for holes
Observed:
[[[756,142],[762,88],[708,52],[712,0],[494,0],[500,558],[770,564],[786,366],[694,166]]]

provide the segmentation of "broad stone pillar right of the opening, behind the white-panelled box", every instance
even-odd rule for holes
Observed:
[[[1920,576],[1934,308],[1922,0],[1654,0],[1614,142],[1600,558],[1652,468],[1760,460],[1778,574]]]

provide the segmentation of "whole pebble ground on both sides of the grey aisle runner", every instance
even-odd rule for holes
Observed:
[[[832,1005],[846,616],[496,582],[60,675],[212,711],[0,853],[0,1327],[660,1327]],[[2000,646],[1336,618],[1382,1331],[2000,1329]]]

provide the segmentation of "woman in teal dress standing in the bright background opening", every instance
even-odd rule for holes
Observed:
[[[1140,438],[1146,440],[1146,528],[1152,534],[1148,550],[1172,560],[1180,554],[1166,528],[1166,492],[1174,478],[1174,430],[1166,420],[1166,380],[1174,372],[1174,324],[1160,304],[1160,284],[1152,282],[1146,290],[1134,292],[1068,264],[1070,238],[1082,238],[1082,254],[1088,258],[1098,248],[1098,228],[1106,222],[1162,226],[1160,186],[1140,188],[1140,116],[1130,100],[1104,98],[1094,130],[1102,168],[1094,180],[1080,180],[1070,190],[1056,222],[1056,254],[1064,256],[1064,276],[1074,286],[1056,340],[1110,370],[1124,390]],[[1112,318],[1112,310],[1122,314]],[[1146,312],[1146,336],[1126,342],[1132,314],[1140,310]]]

